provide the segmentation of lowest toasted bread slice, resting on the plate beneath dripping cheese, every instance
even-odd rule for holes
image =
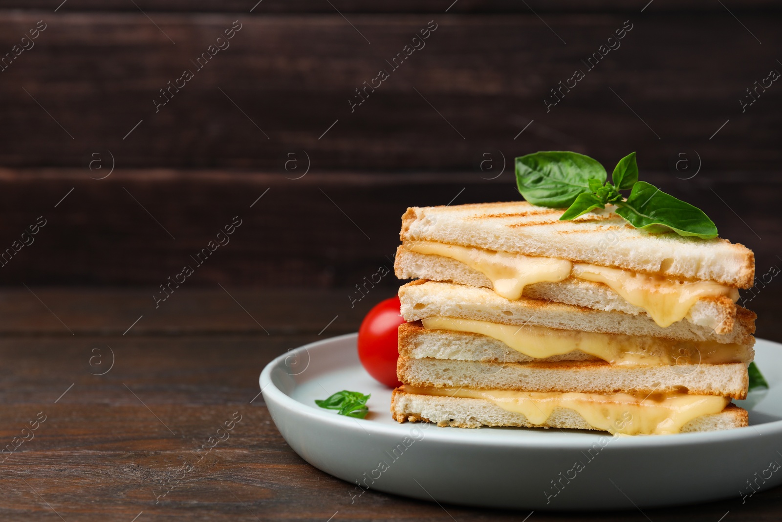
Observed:
[[[410,394],[396,388],[391,398],[391,415],[400,423],[405,421],[436,423],[438,426],[477,428],[543,427],[572,430],[595,430],[572,409],[556,408],[543,424],[530,423],[521,413],[500,408],[492,401],[480,398],[439,397]],[[722,412],[700,416],[686,423],[680,433],[730,430],[748,426],[747,411],[736,405],[727,405]]]

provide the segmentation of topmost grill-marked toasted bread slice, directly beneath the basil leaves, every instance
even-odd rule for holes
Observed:
[[[559,221],[563,212],[526,201],[411,207],[402,216],[400,239],[558,257],[736,288],[753,284],[755,255],[744,245],[675,232],[651,234],[610,211]]]

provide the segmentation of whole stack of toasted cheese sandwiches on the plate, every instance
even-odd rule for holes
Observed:
[[[752,250],[524,201],[402,217],[396,420],[671,434],[747,426]]]

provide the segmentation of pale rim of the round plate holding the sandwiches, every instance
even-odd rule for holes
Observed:
[[[297,401],[295,398],[289,396],[284,391],[279,389],[271,378],[272,372],[285,365],[285,360],[289,357],[300,355],[307,352],[309,355],[310,350],[325,350],[333,344],[341,344],[347,340],[351,340],[358,337],[357,332],[345,333],[343,335],[328,337],[326,339],[316,340],[314,342],[304,344],[300,347],[289,349],[285,353],[278,355],[271,360],[260,373],[259,383],[261,393],[264,395],[264,401],[267,403],[275,402],[281,405],[286,410],[296,412],[301,416],[307,416],[311,419],[317,419],[319,422],[328,423],[334,426],[344,428],[346,430],[364,430],[375,432],[375,434],[407,434],[409,431],[406,428],[407,423],[400,423],[399,426],[375,423],[369,419],[356,419],[353,417],[337,416],[331,410],[319,410],[314,406],[309,406],[301,401]],[[772,340],[762,340],[764,343],[775,344],[782,349],[782,344]],[[389,410],[390,412],[390,410]],[[353,422],[351,422],[353,421]],[[418,426],[420,423],[411,423],[412,426]],[[429,432],[429,427],[432,427],[430,423],[428,427],[423,428],[427,430],[426,437],[432,441],[437,441],[443,444],[456,444],[456,445],[491,445],[508,448],[541,448],[541,449],[581,449],[594,444],[595,436],[611,437],[615,442],[612,444],[615,448],[655,448],[666,447],[671,445],[702,445],[709,443],[723,444],[726,442],[737,443],[740,441],[752,441],[755,437],[773,437],[776,435],[782,435],[782,419],[775,420],[769,423],[763,423],[758,425],[762,427],[766,434],[761,434],[757,427],[747,426],[740,428],[733,428],[730,430],[717,430],[701,433],[685,433],[685,434],[670,434],[670,435],[639,435],[639,436],[612,436],[608,432],[594,431],[594,433],[583,432],[565,432],[565,437],[519,437],[519,434],[527,434],[528,430],[540,431],[539,428],[528,428],[519,430],[507,430],[504,433],[497,433],[493,437],[486,438],[485,440],[476,440],[475,438],[468,438],[471,435],[465,434],[465,430],[454,430],[453,428],[443,430],[434,430]],[[468,430],[470,434],[473,432],[479,432],[480,430],[492,430],[491,427],[483,427],[479,430]],[[465,435],[467,435],[465,437]]]

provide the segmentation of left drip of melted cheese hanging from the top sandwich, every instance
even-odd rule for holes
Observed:
[[[405,248],[419,254],[436,254],[461,261],[486,275],[498,295],[513,300],[522,297],[526,285],[561,281],[570,275],[572,268],[570,261],[554,257],[529,257],[433,241],[406,243]]]

